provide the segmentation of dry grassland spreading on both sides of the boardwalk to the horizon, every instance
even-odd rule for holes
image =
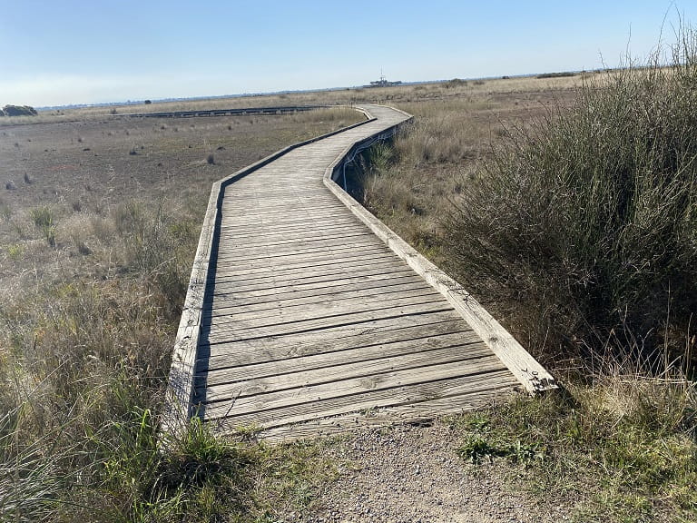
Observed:
[[[305,520],[338,468],[358,467],[328,461],[331,441],[268,447],[244,434],[216,439],[194,423],[163,455],[156,438],[211,182],[353,123],[356,113],[119,113],[366,102],[413,113],[394,143],[361,159],[354,193],[456,273],[443,218],[481,180],[481,163],[531,123],[573,107],[584,81],[604,77],[455,80],[0,119],[0,519]],[[451,419],[461,466],[486,476],[487,464],[506,462],[515,488],[576,521],[693,520],[693,383],[608,370],[545,400]]]

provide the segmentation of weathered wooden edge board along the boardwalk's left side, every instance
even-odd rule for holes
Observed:
[[[203,219],[196,256],[191,268],[189,287],[186,292],[186,298],[184,299],[182,319],[179,323],[176,340],[174,341],[172,363],[162,413],[162,435],[169,434],[177,436],[182,434],[191,416],[196,414],[192,404],[194,371],[201,335],[203,303],[208,298],[207,293],[211,291],[206,285],[211,271],[211,255],[213,255],[221,232],[220,214],[225,187],[303,145],[319,142],[319,140],[323,140],[334,134],[343,133],[349,129],[354,129],[360,125],[376,120],[368,111],[362,108],[351,108],[359,113],[363,113],[366,120],[310,138],[303,142],[293,143],[288,147],[280,149],[280,151],[276,153],[271,153],[266,158],[262,158],[259,162],[252,163],[242,168],[240,171],[232,173],[230,176],[212,184],[211,196]]]

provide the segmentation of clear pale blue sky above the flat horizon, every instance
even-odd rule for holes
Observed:
[[[0,0],[0,105],[595,69],[681,18],[695,0]]]

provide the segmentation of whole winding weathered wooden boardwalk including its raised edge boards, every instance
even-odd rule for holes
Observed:
[[[372,121],[214,187],[172,363],[175,414],[296,438],[554,387],[476,301],[331,181],[355,143],[408,118],[366,110]]]

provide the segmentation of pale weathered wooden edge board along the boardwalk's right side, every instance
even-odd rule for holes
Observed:
[[[397,111],[399,110],[397,109]],[[404,111],[399,112],[409,116],[409,119],[405,122],[411,120],[410,114]],[[398,127],[402,124],[399,123],[382,133],[378,133],[378,135],[391,136],[397,132]],[[393,232],[387,225],[380,222],[373,213],[369,212],[339,186],[337,183],[339,172],[342,171],[346,159],[355,155],[357,151],[365,149],[367,143],[372,144],[375,142],[375,136],[373,136],[348,146],[325,171],[325,185],[361,222],[364,222],[380,240],[385,242],[399,258],[407,262],[417,274],[447,299],[448,303],[462,315],[472,329],[485,341],[486,345],[493,350],[499,360],[520,381],[528,393],[537,394],[546,390],[557,389],[554,377],[462,285],[450,278],[434,263],[429,262],[416,249],[402,240],[396,232]]]

